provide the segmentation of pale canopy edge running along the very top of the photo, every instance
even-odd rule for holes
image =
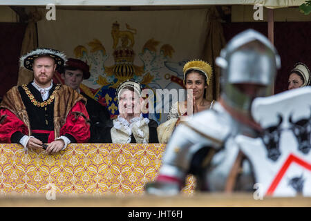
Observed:
[[[305,0],[3,0],[3,6],[217,6],[217,5],[255,5],[267,8],[300,6]]]

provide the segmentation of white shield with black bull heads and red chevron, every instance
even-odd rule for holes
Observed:
[[[310,96],[311,87],[304,87],[254,99],[252,116],[263,132],[236,141],[252,164],[261,195],[311,195]]]

